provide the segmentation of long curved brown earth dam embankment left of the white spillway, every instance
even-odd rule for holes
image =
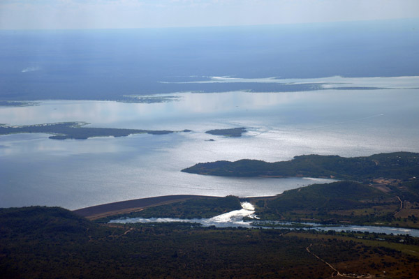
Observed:
[[[83,209],[76,209],[73,212],[89,220],[96,220],[99,218],[114,216],[117,214],[141,211],[142,209],[145,209],[150,206],[170,204],[173,202],[182,202],[187,199],[202,199],[211,197],[212,196],[201,195],[167,195],[160,197],[146,197],[143,199],[130,199],[123,202],[112,202],[110,204],[89,206]]]

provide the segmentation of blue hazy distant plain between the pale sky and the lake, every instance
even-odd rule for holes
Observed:
[[[417,76],[418,29],[418,19],[405,19],[253,27],[0,30],[0,100],[284,91],[278,84],[255,82],[267,77]],[[244,86],[240,79],[222,86],[173,83],[212,76],[247,77],[254,83]],[[286,87],[295,91],[295,86]],[[310,87],[306,84],[306,89]]]

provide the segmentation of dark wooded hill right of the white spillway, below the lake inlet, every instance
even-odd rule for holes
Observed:
[[[416,182],[415,186],[418,187]],[[379,187],[351,181],[287,190],[270,199],[253,198],[261,220],[419,228],[419,195],[406,184]]]

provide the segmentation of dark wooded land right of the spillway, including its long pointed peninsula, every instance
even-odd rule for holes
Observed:
[[[217,161],[199,163],[182,172],[342,180],[287,190],[277,197],[251,198],[261,220],[419,227],[419,153],[353,158],[308,155],[275,163]]]

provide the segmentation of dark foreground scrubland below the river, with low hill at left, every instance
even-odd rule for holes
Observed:
[[[418,246],[363,236],[190,224],[97,225],[65,209],[1,209],[0,273],[2,278],[330,277],[332,269],[307,252],[310,247],[341,273],[419,275]]]

